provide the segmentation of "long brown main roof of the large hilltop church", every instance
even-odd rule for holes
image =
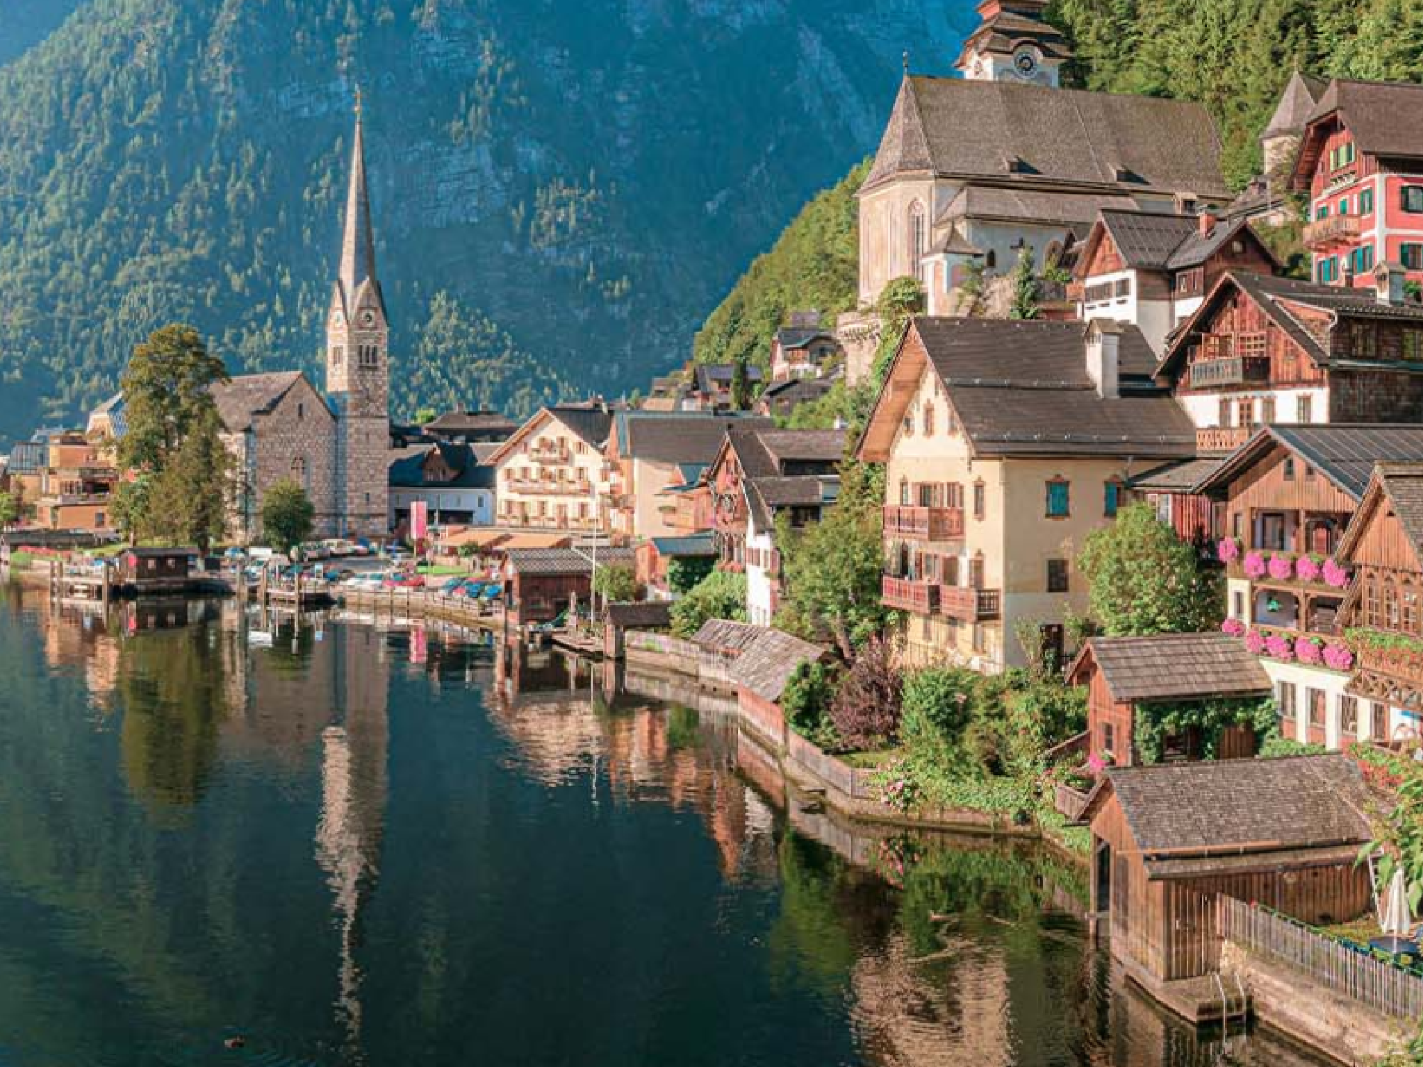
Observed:
[[[1198,104],[905,75],[861,195],[914,174],[1224,201],[1220,154]]]

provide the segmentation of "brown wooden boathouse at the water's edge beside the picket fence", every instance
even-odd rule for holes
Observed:
[[[1107,771],[1091,827],[1091,906],[1127,973],[1180,1014],[1220,1013],[1220,898],[1305,923],[1358,918],[1372,901],[1355,864],[1370,797],[1342,754]]]

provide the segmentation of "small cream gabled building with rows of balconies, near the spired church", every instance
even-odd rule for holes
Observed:
[[[545,407],[488,458],[497,471],[495,525],[608,534],[612,471],[602,404]]]

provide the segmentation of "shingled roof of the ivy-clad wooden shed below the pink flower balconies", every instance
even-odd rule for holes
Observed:
[[[1111,699],[1123,704],[1271,691],[1259,659],[1224,633],[1158,633],[1150,637],[1093,637],[1069,676],[1096,664]]]

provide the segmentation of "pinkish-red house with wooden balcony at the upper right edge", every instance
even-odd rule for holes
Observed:
[[[1316,282],[1370,286],[1376,265],[1400,263],[1423,283],[1423,85],[1329,83],[1291,186],[1309,193]]]

